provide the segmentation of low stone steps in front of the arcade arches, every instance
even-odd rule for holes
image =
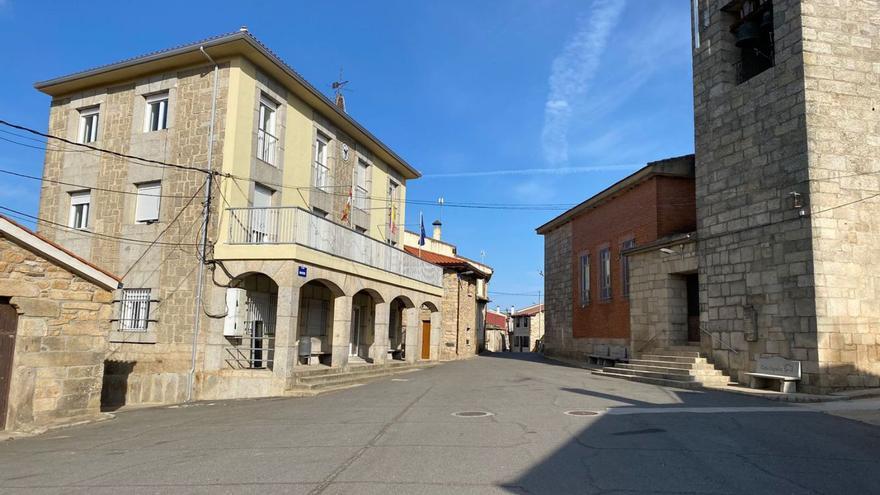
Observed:
[[[328,366],[296,371],[285,395],[311,397],[332,390],[355,387],[379,378],[430,368],[437,363],[407,363],[391,361],[385,364],[353,363],[346,368]]]

